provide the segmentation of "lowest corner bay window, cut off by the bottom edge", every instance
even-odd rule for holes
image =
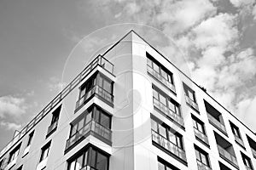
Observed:
[[[108,156],[96,148],[89,147],[68,161],[68,170],[79,170],[83,167],[108,170]]]

